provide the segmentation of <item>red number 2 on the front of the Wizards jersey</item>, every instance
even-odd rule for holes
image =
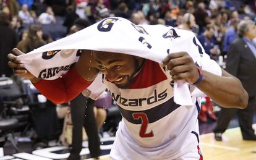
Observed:
[[[148,117],[147,114],[139,112],[139,113],[133,113],[132,117],[134,119],[141,119],[142,120],[142,126],[140,127],[140,137],[146,138],[146,137],[153,137],[154,133],[151,130],[149,133],[146,133],[147,127],[148,127]]]

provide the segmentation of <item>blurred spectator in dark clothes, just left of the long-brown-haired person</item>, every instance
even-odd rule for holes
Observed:
[[[24,30],[22,19],[19,16],[12,16],[11,27],[17,33],[18,41],[22,40],[22,32]]]

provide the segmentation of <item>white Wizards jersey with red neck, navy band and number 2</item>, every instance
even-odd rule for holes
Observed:
[[[127,89],[117,88],[106,77],[103,82],[123,117],[111,159],[175,159],[197,148],[200,102],[192,98],[194,106],[174,103],[165,67],[146,60]]]

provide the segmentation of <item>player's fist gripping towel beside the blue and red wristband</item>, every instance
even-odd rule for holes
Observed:
[[[171,53],[163,59],[163,64],[170,70],[173,80],[186,80],[195,83],[200,75],[192,57],[186,52]]]

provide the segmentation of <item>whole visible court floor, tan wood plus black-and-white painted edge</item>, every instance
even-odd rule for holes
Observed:
[[[215,124],[215,122],[213,122],[213,124]],[[256,159],[256,141],[242,140],[241,130],[237,127],[238,124],[236,119],[233,119],[231,121],[231,127],[234,127],[234,124],[236,125],[235,128],[229,128],[228,130],[226,130],[226,132],[224,132],[223,141],[215,141],[213,133],[205,133],[200,135],[200,148],[202,149],[203,159]],[[207,128],[211,127],[211,124],[205,125],[207,125]],[[203,125],[201,124],[200,126],[202,128]],[[256,130],[256,124],[254,124],[254,129]],[[103,138],[101,138],[101,151],[103,156],[101,156],[100,159],[109,159],[108,154],[110,152],[113,142],[114,137],[110,137],[108,134],[103,135]],[[54,144],[51,145],[51,147],[49,148],[38,149],[35,151],[29,151],[25,149],[31,147],[30,143],[27,143],[27,146],[24,146],[24,142],[20,142],[18,147],[20,149],[20,153],[14,153],[13,151],[6,150],[6,148],[11,148],[11,145],[7,143],[4,149],[5,156],[0,158],[0,160],[62,160],[66,159],[67,156],[69,156],[69,148],[65,146],[56,146]],[[88,160],[88,157],[90,157],[87,141],[83,142],[83,149],[80,154],[83,156],[83,159],[86,160]]]

